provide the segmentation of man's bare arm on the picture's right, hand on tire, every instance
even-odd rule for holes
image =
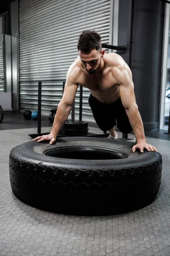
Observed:
[[[155,147],[147,144],[146,142],[142,118],[136,104],[134,84],[130,68],[127,66],[127,64],[121,65],[117,68],[116,73],[119,81],[119,91],[122,105],[126,110],[130,125],[133,128],[133,132],[137,140],[137,144],[133,146],[132,151],[135,152],[136,149],[139,148],[140,151],[143,152],[144,148],[146,148],[147,151],[158,152]]]

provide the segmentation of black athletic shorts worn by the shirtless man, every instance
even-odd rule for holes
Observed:
[[[117,125],[117,128],[124,134],[133,131],[120,98],[111,104],[105,104],[99,102],[98,99],[90,94],[88,103],[91,107],[96,124],[102,131],[109,131],[115,125]]]

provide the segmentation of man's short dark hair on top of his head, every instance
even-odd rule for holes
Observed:
[[[84,30],[81,35],[79,35],[77,49],[85,53],[90,53],[94,49],[97,51],[102,50],[101,36],[94,29]]]

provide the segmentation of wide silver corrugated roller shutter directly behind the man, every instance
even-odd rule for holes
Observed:
[[[20,0],[20,109],[37,109],[37,81],[42,83],[42,113],[57,107],[62,81],[77,58],[83,29],[96,29],[109,43],[111,0]],[[28,82],[31,80],[30,82]],[[34,82],[36,81],[36,82]],[[92,116],[90,91],[83,88],[83,116]],[[46,112],[48,111],[48,112]],[[79,88],[75,113],[79,111]]]

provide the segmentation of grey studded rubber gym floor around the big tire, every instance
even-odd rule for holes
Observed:
[[[47,117],[42,117],[42,132],[50,129]],[[89,132],[101,133],[91,123]],[[148,137],[146,133],[147,142],[163,158],[161,187],[152,204],[123,215],[87,217],[42,211],[15,198],[8,157],[16,145],[31,140],[31,133],[37,133],[37,121],[24,120],[21,113],[4,113],[0,124],[0,256],[170,255],[170,135],[156,131]]]

